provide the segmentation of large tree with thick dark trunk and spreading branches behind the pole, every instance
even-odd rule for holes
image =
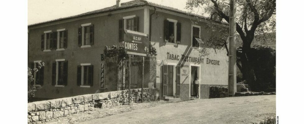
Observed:
[[[229,2],[230,0],[187,0],[186,8],[193,11],[195,8],[202,8],[203,12],[209,15],[209,20],[229,23]],[[243,80],[248,84],[256,82],[256,74],[253,63],[249,58],[253,39],[257,35],[275,32],[275,0],[236,0],[236,31],[242,39],[242,52],[238,54],[237,67],[243,74]],[[214,46],[227,46],[227,42]]]

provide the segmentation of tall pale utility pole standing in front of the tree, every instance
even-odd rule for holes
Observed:
[[[230,0],[229,14],[229,63],[228,63],[228,97],[233,97],[237,91],[237,50],[236,39],[236,0]]]

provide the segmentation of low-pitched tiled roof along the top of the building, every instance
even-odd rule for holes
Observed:
[[[190,15],[190,16],[196,16],[196,17],[199,17],[199,18],[202,18],[202,19],[207,19],[206,17],[200,16],[200,15],[191,14],[191,13],[188,13],[186,11],[181,11],[181,10],[178,10],[176,8],[167,7],[167,6],[159,5],[159,4],[156,4],[156,3],[148,2],[146,0],[133,0],[133,1],[121,3],[120,7],[117,7],[116,5],[114,5],[112,7],[106,7],[106,8],[103,8],[103,9],[90,11],[90,12],[82,13],[82,14],[79,14],[79,15],[73,15],[73,16],[69,16],[69,17],[65,17],[65,18],[59,18],[59,19],[40,22],[40,23],[36,23],[36,24],[30,24],[30,25],[28,25],[28,27],[32,27],[32,26],[36,26],[36,25],[40,25],[40,24],[47,24],[47,23],[61,21],[61,20],[72,19],[72,18],[78,18],[78,17],[82,17],[82,16],[94,15],[94,14],[99,14],[99,13],[104,13],[104,12],[109,12],[109,11],[127,9],[127,8],[132,8],[132,7],[140,7],[140,6],[145,6],[145,5],[151,6],[151,7],[157,7],[157,8],[165,9],[165,10],[168,10],[168,11],[177,12],[177,13],[182,13],[182,14],[186,14],[186,15]]]

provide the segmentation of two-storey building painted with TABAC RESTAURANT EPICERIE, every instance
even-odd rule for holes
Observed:
[[[193,20],[200,21],[193,24]],[[120,90],[121,61],[105,57],[104,48],[122,45],[122,31],[128,29],[149,34],[158,54],[145,59],[144,87],[154,84],[160,89],[160,99],[189,100],[195,96],[193,83],[198,77],[198,98],[208,98],[209,86],[228,85],[226,50],[215,53],[207,48],[210,55],[204,57],[198,52],[204,39],[210,37],[208,23],[219,24],[145,0],[117,0],[112,7],[28,25],[29,66],[37,68],[38,62],[45,63],[34,74],[35,97],[53,99]],[[140,58],[131,62],[133,88],[141,87]],[[128,78],[126,74],[126,83]]]

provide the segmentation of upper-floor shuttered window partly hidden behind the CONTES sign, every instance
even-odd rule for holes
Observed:
[[[124,29],[138,31],[138,17],[136,15],[125,16],[118,21],[119,42],[123,41]]]

